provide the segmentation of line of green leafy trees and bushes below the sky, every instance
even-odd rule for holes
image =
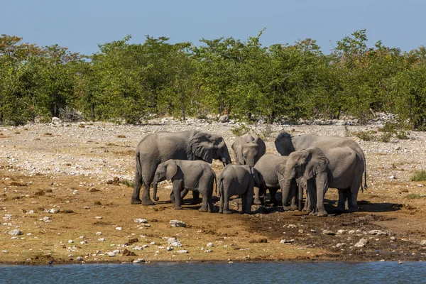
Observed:
[[[63,110],[135,124],[165,114],[366,121],[386,111],[426,129],[424,46],[403,52],[378,41],[369,48],[361,30],[326,55],[310,38],[263,46],[262,33],[200,45],[151,36],[129,43],[127,35],[92,55],[1,35],[0,123],[49,121]]]

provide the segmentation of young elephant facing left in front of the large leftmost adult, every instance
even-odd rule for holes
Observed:
[[[158,182],[172,180],[175,209],[182,209],[181,192],[197,190],[202,196],[201,212],[213,212],[213,182],[216,174],[204,160],[166,160],[154,175],[153,199],[158,201]]]

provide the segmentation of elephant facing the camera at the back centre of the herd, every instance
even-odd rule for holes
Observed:
[[[266,146],[263,140],[254,135],[246,133],[232,143],[235,161],[237,165],[251,165],[252,167],[266,153]]]

